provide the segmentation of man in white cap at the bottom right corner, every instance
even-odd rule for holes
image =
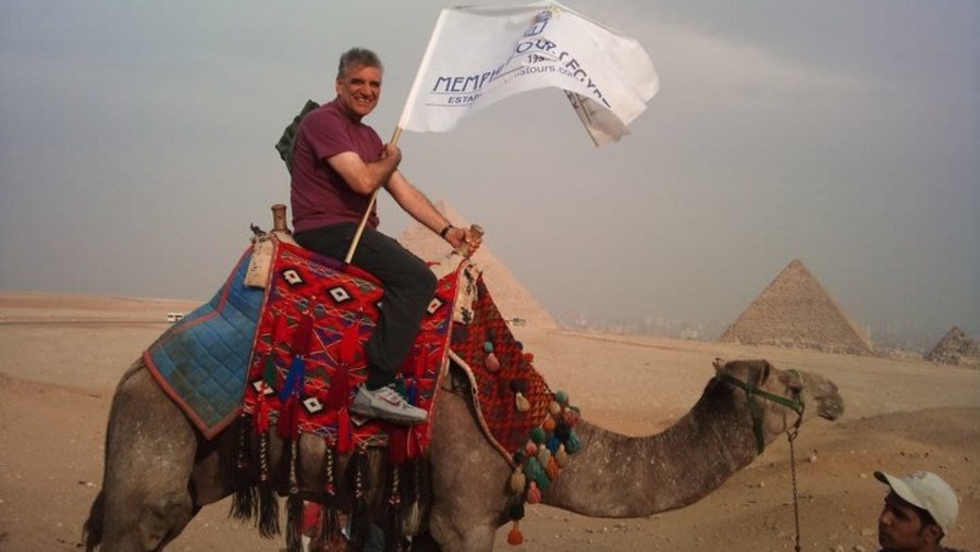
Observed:
[[[892,489],[878,518],[882,552],[957,552],[940,544],[959,513],[948,483],[931,471],[902,477],[875,471],[874,477]]]

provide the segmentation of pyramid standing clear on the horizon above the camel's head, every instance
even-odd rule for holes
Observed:
[[[873,352],[870,340],[798,259],[762,290],[719,341],[852,355]]]

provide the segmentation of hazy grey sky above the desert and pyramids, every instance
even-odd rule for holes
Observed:
[[[731,321],[799,258],[875,332],[980,334],[980,2],[564,3],[653,60],[630,136],[548,89],[399,143],[549,310]],[[0,289],[209,298],[338,56],[381,54],[388,139],[449,5],[3,0]]]

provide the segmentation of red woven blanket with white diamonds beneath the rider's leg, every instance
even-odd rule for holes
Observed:
[[[367,378],[364,345],[383,308],[380,283],[356,267],[273,243],[243,403],[256,430],[274,425],[285,438],[321,436],[338,452],[388,444],[397,436],[405,438],[397,449],[407,457],[420,455],[429,442],[429,422],[407,429],[373,419],[358,425],[362,420],[352,420],[347,410]],[[446,360],[456,291],[468,266],[464,261],[439,280],[415,345],[396,375],[408,401],[430,412]]]

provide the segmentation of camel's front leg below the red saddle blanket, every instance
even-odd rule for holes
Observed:
[[[429,530],[445,552],[493,550],[510,467],[483,437],[469,402],[443,391],[432,421]]]

